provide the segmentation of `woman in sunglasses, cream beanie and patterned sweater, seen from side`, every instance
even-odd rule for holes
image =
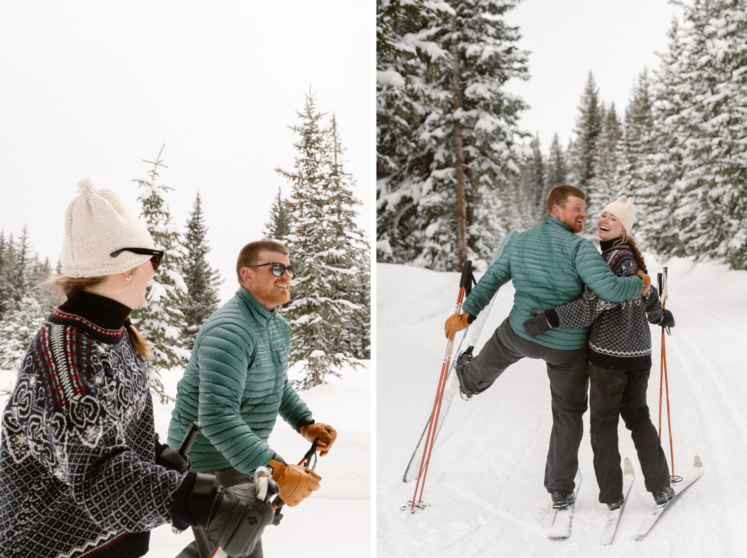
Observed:
[[[212,475],[199,484],[209,481],[212,492],[198,494],[188,458],[153,428],[150,347],[128,316],[144,302],[163,252],[116,193],[88,180],[78,186],[55,280],[67,300],[28,347],[3,415],[0,548],[138,558],[149,530],[165,523],[250,541],[272,521],[269,503],[253,487],[214,486]]]

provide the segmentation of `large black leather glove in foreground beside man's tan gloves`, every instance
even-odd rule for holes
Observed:
[[[254,550],[264,527],[275,518],[272,504],[258,500],[252,483],[229,489],[215,486],[215,477],[198,473],[187,510],[205,529],[208,539],[229,556],[245,556]]]

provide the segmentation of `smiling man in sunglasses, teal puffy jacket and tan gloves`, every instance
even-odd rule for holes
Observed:
[[[252,482],[268,467],[287,506],[319,489],[311,469],[285,462],[267,444],[280,415],[324,456],[337,433],[317,423],[288,382],[288,323],[277,306],[291,300],[294,268],[288,249],[275,241],[247,244],[238,256],[234,297],[202,324],[176,391],[168,443],[178,447],[192,421],[202,424],[190,457],[192,468],[225,487]],[[198,557],[209,546],[204,532],[178,558]],[[208,552],[213,547],[208,548]],[[207,554],[202,554],[206,556]],[[261,541],[248,555],[262,556]],[[238,557],[234,557],[238,558]]]

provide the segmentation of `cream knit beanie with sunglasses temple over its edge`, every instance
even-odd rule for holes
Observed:
[[[153,238],[124,200],[111,190],[94,190],[89,179],[78,182],[80,196],[65,212],[62,241],[62,274],[66,277],[98,277],[131,270],[149,255],[111,252],[120,248],[152,248]]]

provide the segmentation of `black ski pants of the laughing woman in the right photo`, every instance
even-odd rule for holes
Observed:
[[[669,486],[666,456],[646,403],[649,373],[651,368],[619,371],[589,363],[592,449],[601,503],[622,499],[617,437],[620,417],[633,437],[646,490]]]

